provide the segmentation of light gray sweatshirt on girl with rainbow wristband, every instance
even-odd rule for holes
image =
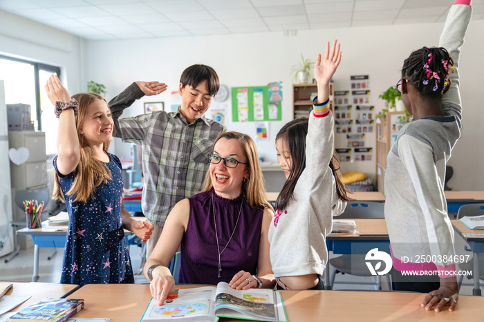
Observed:
[[[314,104],[314,108],[321,110],[326,105]],[[306,136],[306,169],[297,181],[294,199],[272,218],[268,239],[275,277],[322,275],[328,261],[326,236],[331,233],[333,216],[341,214],[346,207],[346,202],[337,195],[329,167],[334,146],[333,114],[326,115],[315,117],[311,112]]]

